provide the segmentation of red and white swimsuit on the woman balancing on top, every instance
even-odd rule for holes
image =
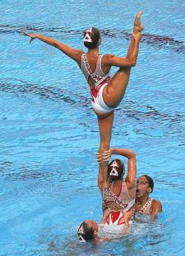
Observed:
[[[90,69],[90,64],[86,58],[86,54],[81,56],[81,71],[85,75],[86,81],[88,82],[89,78],[95,80],[95,86],[90,88],[91,94],[91,106],[95,112],[108,113],[113,111],[112,107],[108,107],[104,103],[103,99],[103,90],[104,87],[110,83],[109,73],[105,74],[101,69],[101,59],[102,55],[99,55],[94,72]]]

